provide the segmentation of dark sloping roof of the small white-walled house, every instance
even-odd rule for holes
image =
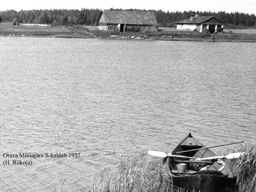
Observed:
[[[211,25],[211,24],[223,25],[223,24],[225,24],[213,16],[192,17],[192,20],[191,20],[191,18],[187,18],[187,19],[175,22],[175,23],[177,23],[177,24],[201,24],[201,23],[204,23],[204,24],[208,24],[208,25]]]

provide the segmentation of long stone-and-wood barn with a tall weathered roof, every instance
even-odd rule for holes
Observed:
[[[145,31],[147,27],[157,28],[157,21],[154,12],[133,12],[133,11],[102,11],[98,25],[116,26],[120,32],[138,29]],[[105,27],[106,28],[106,27]]]

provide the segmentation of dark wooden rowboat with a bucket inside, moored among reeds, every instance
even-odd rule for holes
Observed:
[[[197,139],[189,134],[173,150],[172,154],[188,157],[213,157],[216,156],[210,149],[204,148]],[[182,152],[198,149],[195,151]],[[186,166],[185,170],[184,167]],[[186,190],[200,192],[233,191],[236,178],[231,169],[221,159],[211,161],[194,161],[179,157],[166,157],[166,170],[173,185],[183,187]]]

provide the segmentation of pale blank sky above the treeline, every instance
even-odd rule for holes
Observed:
[[[256,15],[256,0],[1,0],[0,10],[32,9],[78,9],[98,8],[137,8],[145,10],[163,10],[167,12],[183,11],[225,11]]]

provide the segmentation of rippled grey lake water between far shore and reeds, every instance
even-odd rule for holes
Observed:
[[[206,146],[255,142],[255,50],[256,43],[0,37],[0,189],[53,191],[62,178],[65,190],[87,189],[121,157],[171,152],[189,132]]]

